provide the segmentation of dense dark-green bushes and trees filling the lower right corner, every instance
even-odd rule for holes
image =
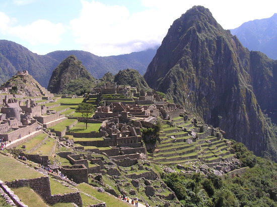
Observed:
[[[276,206],[277,164],[254,156],[242,143],[232,147],[250,167],[239,177],[170,173],[163,180],[184,206]]]

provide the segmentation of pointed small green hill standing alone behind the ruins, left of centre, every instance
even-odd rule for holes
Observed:
[[[76,56],[70,55],[53,71],[48,90],[56,94],[77,94],[89,92],[95,79]]]

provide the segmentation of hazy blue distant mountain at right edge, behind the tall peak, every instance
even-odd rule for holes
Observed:
[[[277,59],[277,13],[270,18],[245,22],[230,31],[249,50]]]

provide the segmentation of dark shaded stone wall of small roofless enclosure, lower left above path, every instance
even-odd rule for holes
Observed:
[[[62,166],[60,171],[76,183],[89,183],[88,168],[85,165]]]

